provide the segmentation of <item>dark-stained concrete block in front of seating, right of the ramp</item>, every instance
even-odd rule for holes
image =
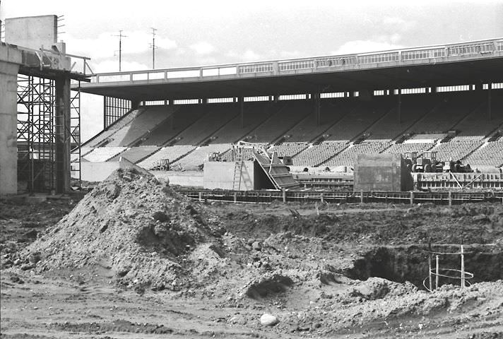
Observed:
[[[400,154],[357,155],[355,191],[410,191],[413,178]]]

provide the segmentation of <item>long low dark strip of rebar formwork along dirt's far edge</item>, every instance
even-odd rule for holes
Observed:
[[[502,202],[503,192],[382,192],[382,191],[231,191],[176,188],[189,198],[211,201],[271,203],[273,201],[335,203],[435,203],[452,205],[468,202]]]

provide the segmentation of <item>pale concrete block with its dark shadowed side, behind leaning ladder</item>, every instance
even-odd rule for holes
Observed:
[[[234,189],[235,162],[208,161],[204,163],[205,189]],[[271,180],[256,161],[243,161],[239,191],[274,189]]]

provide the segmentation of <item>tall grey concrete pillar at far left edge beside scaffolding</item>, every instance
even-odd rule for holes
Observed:
[[[17,76],[21,53],[0,44],[0,194],[18,191]]]

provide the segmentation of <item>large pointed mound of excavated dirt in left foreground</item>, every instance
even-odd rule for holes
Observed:
[[[213,220],[213,221],[212,221]],[[25,250],[37,270],[105,263],[125,285],[176,289],[182,257],[219,237],[218,222],[165,183],[118,169]]]

